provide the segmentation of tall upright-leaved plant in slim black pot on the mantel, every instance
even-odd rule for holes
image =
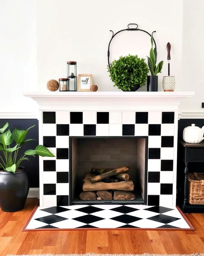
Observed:
[[[153,50],[153,37],[151,36],[151,49],[150,49],[150,57],[147,56],[148,66],[151,72],[151,75],[147,77],[147,91],[158,91],[158,73],[161,73],[162,66],[164,61],[160,61],[156,66],[156,57],[157,51],[156,47]]]

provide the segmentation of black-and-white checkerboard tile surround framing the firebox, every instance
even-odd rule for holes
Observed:
[[[172,205],[174,112],[42,111],[43,206],[69,205],[69,136],[147,136],[147,205]]]

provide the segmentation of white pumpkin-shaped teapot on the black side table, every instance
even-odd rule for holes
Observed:
[[[184,128],[183,140],[187,143],[200,143],[204,139],[203,133],[204,126],[200,128],[192,123],[191,126],[187,126]]]

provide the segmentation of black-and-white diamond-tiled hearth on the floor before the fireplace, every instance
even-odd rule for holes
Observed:
[[[176,207],[146,205],[72,205],[38,207],[23,230],[190,229]]]

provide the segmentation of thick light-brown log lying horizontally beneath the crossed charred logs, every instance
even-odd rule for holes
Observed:
[[[96,182],[91,183],[90,178],[93,176],[91,173],[87,173],[84,178],[83,191],[98,191],[98,190],[124,190],[133,191],[134,183],[132,180],[120,181],[113,183]]]

